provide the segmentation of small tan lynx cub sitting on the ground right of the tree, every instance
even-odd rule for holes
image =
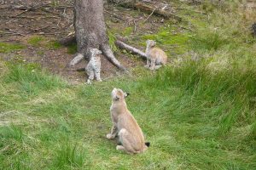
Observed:
[[[159,69],[162,65],[166,65],[166,53],[160,48],[154,48],[156,42],[153,40],[148,40],[146,43],[147,65],[145,65],[145,67],[153,71]]]

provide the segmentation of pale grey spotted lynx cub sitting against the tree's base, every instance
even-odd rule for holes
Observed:
[[[91,58],[88,63],[88,65],[85,68],[85,71],[87,72],[88,80],[87,83],[91,84],[90,81],[96,77],[96,81],[102,82],[101,79],[101,56],[102,51],[98,50],[97,48],[92,48],[90,50]]]

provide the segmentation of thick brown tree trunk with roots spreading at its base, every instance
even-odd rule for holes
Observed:
[[[78,54],[70,65],[73,66],[84,58],[90,59],[90,49],[98,48],[113,65],[125,70],[108,45],[102,0],[75,0],[74,28]]]

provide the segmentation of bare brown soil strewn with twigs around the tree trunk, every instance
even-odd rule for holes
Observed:
[[[105,9],[109,11],[105,14],[105,20],[110,30],[124,30],[127,26],[133,26],[135,21],[139,23],[148,18],[148,14],[133,14],[131,9],[114,8],[112,5],[106,6]],[[122,16],[124,20],[114,17],[113,13]],[[137,32],[133,31],[131,37],[137,37],[145,32],[153,33],[156,31],[155,27],[163,24],[162,19],[153,16],[147,22],[142,27],[137,26]],[[44,69],[72,83],[84,82],[85,72],[76,70],[84,68],[86,61],[76,65],[75,69],[67,69],[66,65],[73,59],[74,54],[69,54],[67,47],[47,48],[47,43],[67,37],[73,32],[72,0],[3,0],[3,3],[0,2],[0,23],[0,42],[18,42],[26,46],[15,53],[1,54],[1,58],[11,60],[18,56],[23,62],[36,62]],[[28,43],[35,35],[44,37],[43,45]],[[140,47],[142,50],[143,48]],[[115,56],[128,69],[144,65],[142,59],[131,58],[120,52]],[[116,74],[119,74],[119,71],[102,56],[102,79]]]

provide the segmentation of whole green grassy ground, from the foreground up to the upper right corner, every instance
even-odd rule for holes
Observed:
[[[36,64],[0,61],[0,168],[255,169],[256,41],[247,29],[255,15],[235,4],[202,4],[211,17],[181,11],[193,32],[163,26],[154,39],[177,47],[172,65],[156,73],[134,68],[71,86]],[[127,104],[151,143],[141,155],[105,138],[113,88],[131,94]]]

